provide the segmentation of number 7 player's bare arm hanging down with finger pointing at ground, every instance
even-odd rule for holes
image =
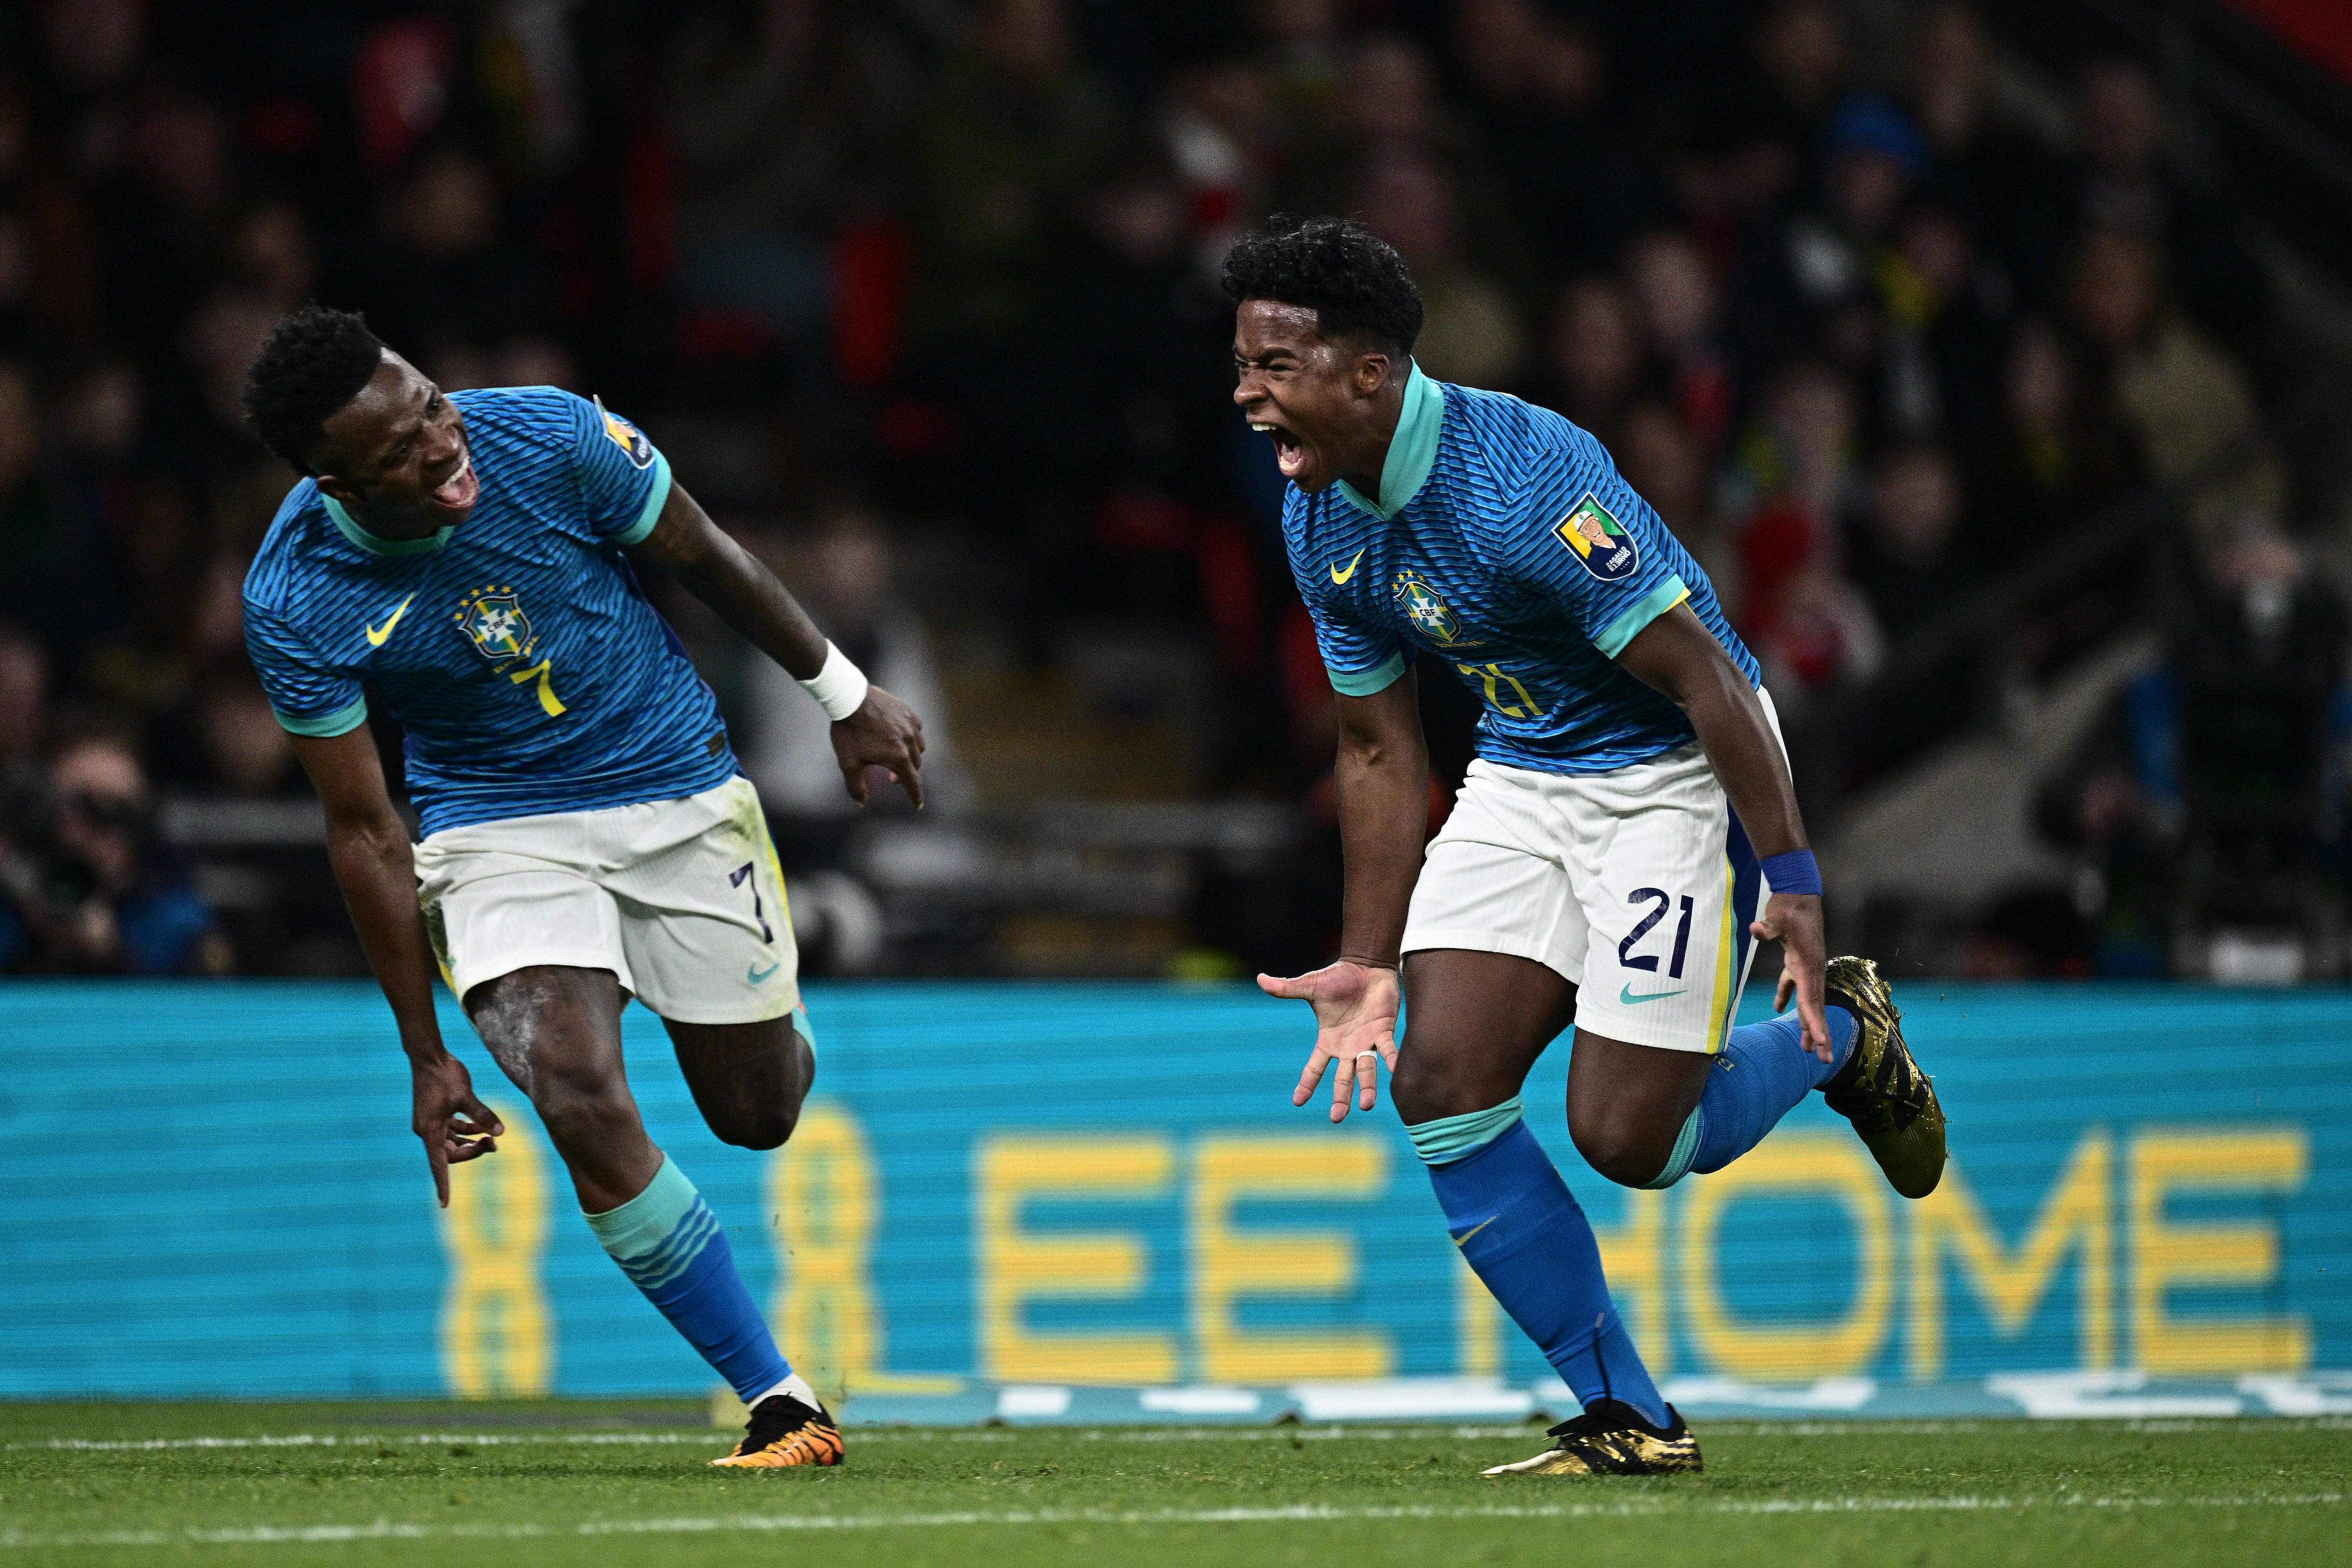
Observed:
[[[400,1048],[409,1056],[414,1107],[409,1126],[426,1145],[433,1194],[449,1206],[449,1166],[492,1154],[506,1133],[473,1093],[466,1063],[449,1056],[433,1016],[433,947],[416,912],[409,825],[383,788],[383,764],[367,724],[332,738],[289,736],[320,804],[327,809],[327,860],[360,933],[369,969],[393,1004]]]

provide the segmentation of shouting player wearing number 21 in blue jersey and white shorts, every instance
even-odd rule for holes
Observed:
[[[1943,1175],[1943,1110],[1877,969],[1823,959],[1755,656],[1602,444],[1421,374],[1421,294],[1355,223],[1261,226],[1225,294],[1235,402],[1289,480],[1282,536],[1338,691],[1341,959],[1258,976],[1315,1009],[1291,1100],[1338,1063],[1341,1121],[1390,1067],[1463,1258],[1583,1401],[1552,1448],[1486,1474],[1698,1469],[1519,1117],[1536,1058],[1573,1025],[1569,1133],[1628,1187],[1719,1171],[1820,1088],[1917,1199]],[[1484,701],[1425,851],[1423,654]],[[1752,938],[1783,943],[1776,1004],[1797,1011],[1733,1027]]]

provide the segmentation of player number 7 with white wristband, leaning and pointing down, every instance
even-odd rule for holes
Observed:
[[[597,1241],[750,1406],[715,1465],[837,1465],[833,1415],[621,1070],[637,997],[710,1131],[750,1150],[790,1138],[816,1072],[760,799],[630,559],[802,679],[858,802],[880,766],[922,804],[922,722],[602,404],[543,386],[442,395],[358,315],[308,306],[261,348],[245,411],[303,475],[245,578],[245,639],[327,806],[440,1201],[449,1166],[506,1128],[442,1046],[435,966],[546,1124]],[[369,691],[407,729],[414,846]]]

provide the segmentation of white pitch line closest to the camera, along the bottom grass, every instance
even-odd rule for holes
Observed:
[[[774,1533],[774,1530],[936,1530],[964,1526],[1188,1526],[1188,1523],[1355,1523],[1355,1521],[1470,1521],[1470,1519],[1656,1519],[1668,1514],[1740,1514],[1740,1516],[1804,1516],[1804,1514],[2018,1514],[2027,1509],[2288,1509],[2288,1507],[2340,1507],[2343,1493],[2291,1493],[2277,1497],[1766,1497],[1752,1502],[1689,1502],[1663,1500],[1639,1502],[1550,1502],[1550,1505],[1489,1505],[1489,1507],[1331,1507],[1319,1502],[1296,1502],[1289,1507],[1235,1507],[1235,1509],[1016,1509],[1016,1512],[957,1512],[957,1514],[717,1514],[706,1519],[586,1519],[572,1526],[515,1523],[515,1526],[466,1526],[466,1523],[400,1523],[376,1519],[372,1523],[320,1523],[320,1526],[245,1526],[226,1530],[103,1530],[89,1535],[28,1535],[21,1530],[0,1533],[0,1549],[61,1549],[61,1547],[278,1547],[320,1544],[350,1540],[550,1540],[550,1537],[597,1537],[597,1535],[713,1535],[713,1533]]]

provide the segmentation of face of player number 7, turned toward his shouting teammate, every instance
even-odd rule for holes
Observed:
[[[322,491],[365,508],[374,527],[393,534],[454,527],[482,498],[466,418],[390,350],[360,395],[327,418],[318,468]]]

